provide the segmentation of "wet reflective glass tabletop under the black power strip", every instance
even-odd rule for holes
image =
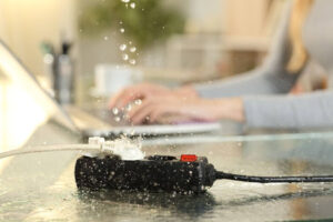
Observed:
[[[58,132],[60,133],[60,132]],[[296,137],[295,137],[296,135]],[[178,138],[179,139],[179,138]],[[204,142],[200,142],[200,140]],[[232,141],[234,140],[234,141]],[[252,175],[332,174],[333,134],[202,135],[195,143],[143,142],[147,154],[208,157],[218,170]],[[174,140],[176,141],[176,140]],[[2,221],[276,221],[333,218],[330,183],[216,181],[204,194],[79,192],[74,152],[14,157],[0,170]],[[3,161],[3,160],[2,160]]]

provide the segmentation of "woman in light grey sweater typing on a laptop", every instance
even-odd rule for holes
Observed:
[[[333,78],[333,1],[296,0],[287,10],[264,64],[223,81],[170,90],[139,84],[110,102],[123,108],[142,99],[128,115],[133,123],[161,120],[234,120],[250,128],[333,127],[333,92],[299,92],[297,78],[312,64]],[[311,70],[311,69],[310,69]],[[170,119],[171,118],[171,119]]]

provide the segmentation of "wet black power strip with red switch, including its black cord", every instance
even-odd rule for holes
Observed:
[[[333,182],[333,175],[251,176],[216,171],[206,158],[193,154],[151,155],[144,160],[81,157],[75,164],[79,189],[200,193],[218,179],[259,183]]]

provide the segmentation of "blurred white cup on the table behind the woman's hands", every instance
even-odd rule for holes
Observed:
[[[138,69],[115,64],[98,64],[94,69],[94,94],[110,97],[119,90],[141,81]]]

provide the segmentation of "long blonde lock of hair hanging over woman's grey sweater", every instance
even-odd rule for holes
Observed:
[[[313,2],[314,0],[294,0],[289,26],[291,57],[286,64],[286,70],[291,73],[303,69],[309,58],[302,40],[302,28]]]

